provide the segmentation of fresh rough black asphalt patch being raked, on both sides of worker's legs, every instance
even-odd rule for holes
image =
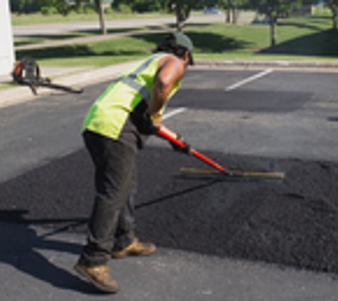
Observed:
[[[285,173],[282,183],[184,178],[194,158],[139,153],[137,232],[159,246],[338,272],[338,164],[206,153],[229,168]],[[149,165],[149,161],[153,164]],[[0,185],[0,219],[84,233],[93,166],[81,150]]]

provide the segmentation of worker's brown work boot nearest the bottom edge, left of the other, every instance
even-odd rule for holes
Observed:
[[[97,267],[86,267],[77,263],[74,270],[78,272],[85,280],[89,280],[95,287],[103,292],[118,292],[120,287],[118,283],[110,278],[109,267],[107,265],[99,265]]]

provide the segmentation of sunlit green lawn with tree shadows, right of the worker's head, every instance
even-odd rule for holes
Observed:
[[[196,56],[217,58],[337,59],[338,31],[331,30],[329,16],[280,19],[277,45],[270,47],[270,26],[249,24],[189,29]]]

